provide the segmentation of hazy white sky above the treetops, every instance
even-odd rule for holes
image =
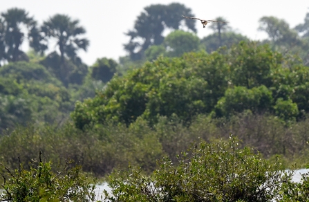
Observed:
[[[127,55],[123,44],[129,42],[124,33],[133,28],[134,21],[143,8],[151,4],[169,4],[178,2],[191,8],[196,17],[214,19],[225,17],[230,26],[250,39],[263,39],[264,33],[257,30],[259,19],[263,16],[274,16],[285,19],[294,28],[303,23],[309,12],[308,0],[10,0],[1,1],[1,10],[24,8],[30,16],[42,21],[55,14],[66,14],[79,19],[80,25],[86,28],[86,35],[91,44],[88,51],[79,52],[83,61],[91,65],[97,58],[110,57],[118,59]],[[209,28],[196,21],[198,37],[212,33]],[[23,50],[28,50],[24,44]]]

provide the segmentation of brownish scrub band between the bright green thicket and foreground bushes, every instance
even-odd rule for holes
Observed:
[[[189,127],[177,117],[158,120],[151,127],[139,118],[129,127],[106,123],[84,131],[70,122],[64,127],[18,127],[1,137],[1,163],[16,169],[17,156],[31,162],[42,151],[46,160],[65,163],[71,159],[82,165],[84,172],[97,177],[106,176],[113,169],[127,169],[128,165],[141,167],[150,174],[156,169],[157,159],[169,156],[176,163],[176,156],[187,151],[191,144],[227,140],[230,134],[238,136],[241,147],[252,147],[265,159],[281,156],[284,168],[294,163],[304,167],[309,161],[308,119],[287,125],[276,116],[240,113],[229,120],[197,116]]]

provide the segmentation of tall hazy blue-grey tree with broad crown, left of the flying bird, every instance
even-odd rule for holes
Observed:
[[[130,41],[124,44],[124,49],[129,52],[131,59],[142,59],[144,50],[149,46],[162,44],[163,31],[166,28],[178,30],[180,21],[183,20],[182,15],[192,15],[192,13],[191,9],[180,3],[154,4],[145,7],[136,19],[134,29],[126,33]],[[189,30],[196,32],[194,21],[185,21],[185,25]]]

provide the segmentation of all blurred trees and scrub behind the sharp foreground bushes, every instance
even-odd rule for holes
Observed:
[[[309,14],[295,28],[261,17],[268,38],[259,42],[228,24],[212,24],[200,39],[196,21],[182,15],[194,13],[180,3],[147,6],[125,33],[128,54],[88,66],[78,19],[55,14],[39,24],[26,10],[2,11],[1,162],[16,168],[17,156],[28,162],[41,150],[96,176],[129,163],[151,173],[162,156],[176,162],[191,143],[232,133],[264,158],[281,156],[283,167],[304,167]]]

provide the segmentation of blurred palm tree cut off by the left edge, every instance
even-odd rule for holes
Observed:
[[[36,26],[36,21],[32,17],[28,17],[26,10],[19,8],[8,9],[1,13],[1,17],[3,19],[0,21],[0,30],[2,30],[1,38],[3,40],[0,39],[0,42],[5,46],[6,59],[9,62],[15,62],[25,55],[23,51],[19,50],[25,39],[25,34],[21,31],[23,26],[31,30]],[[1,48],[3,49],[3,47]]]

